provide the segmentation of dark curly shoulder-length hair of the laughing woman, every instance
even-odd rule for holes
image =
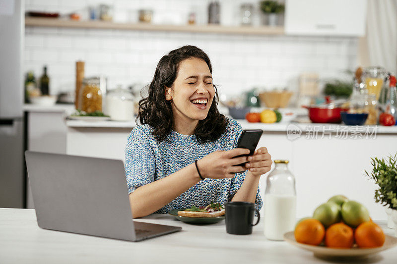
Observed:
[[[161,142],[166,140],[173,128],[173,113],[171,102],[165,100],[165,88],[171,87],[177,77],[179,64],[188,58],[203,59],[212,73],[209,57],[196,46],[183,46],[163,56],[157,64],[152,82],[148,87],[147,96],[139,101],[139,111],[136,117],[141,124],[148,124],[154,128],[152,134]],[[195,135],[200,144],[215,141],[226,131],[229,119],[220,114],[218,108],[219,97],[215,88],[215,97],[205,119],[199,120]]]

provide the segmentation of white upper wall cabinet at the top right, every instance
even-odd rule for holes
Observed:
[[[286,35],[364,36],[367,1],[286,0]]]

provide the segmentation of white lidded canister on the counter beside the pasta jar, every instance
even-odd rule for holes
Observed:
[[[106,95],[106,113],[112,120],[131,121],[134,112],[134,96],[120,85]]]

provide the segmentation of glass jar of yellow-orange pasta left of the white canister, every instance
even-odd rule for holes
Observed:
[[[78,110],[87,113],[102,111],[102,91],[99,80],[84,78],[83,87],[79,91]]]

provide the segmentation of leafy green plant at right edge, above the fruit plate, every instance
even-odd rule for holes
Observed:
[[[365,170],[368,177],[375,180],[379,188],[375,190],[375,202],[391,209],[397,209],[397,153],[394,157],[371,158],[374,166],[371,175]]]

